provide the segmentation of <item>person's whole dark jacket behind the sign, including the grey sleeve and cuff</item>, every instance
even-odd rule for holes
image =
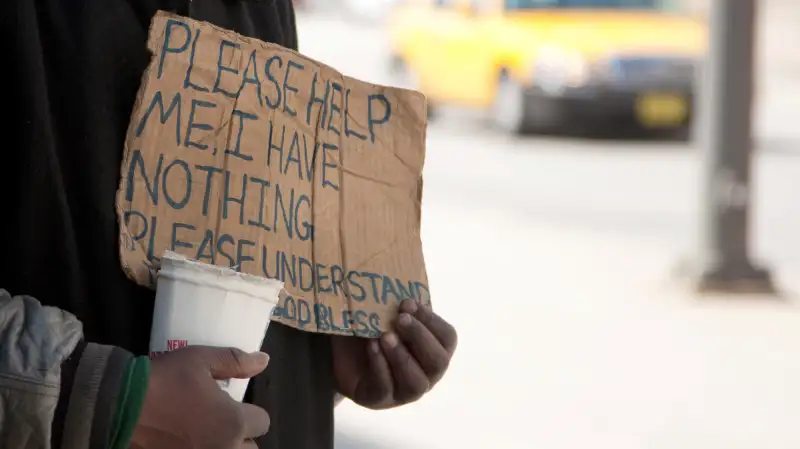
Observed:
[[[0,448],[103,447],[121,367],[147,354],[154,295],[120,269],[114,204],[157,10],[297,47],[290,0],[3,3]],[[329,337],[274,323],[263,349],[260,446],[332,448]]]

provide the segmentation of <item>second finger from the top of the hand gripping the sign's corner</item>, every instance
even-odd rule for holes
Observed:
[[[400,340],[411,351],[431,384],[438,382],[450,365],[450,354],[444,346],[433,332],[407,313],[401,313],[397,318],[396,328]]]

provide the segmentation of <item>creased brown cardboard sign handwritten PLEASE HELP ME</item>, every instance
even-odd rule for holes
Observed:
[[[148,47],[116,205],[131,279],[175,251],[284,281],[273,320],[362,337],[430,301],[422,94],[163,12]]]

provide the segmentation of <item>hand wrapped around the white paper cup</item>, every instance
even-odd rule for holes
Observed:
[[[267,367],[262,352],[189,346],[153,359],[133,449],[256,449],[269,415],[235,401],[217,380],[249,379]]]

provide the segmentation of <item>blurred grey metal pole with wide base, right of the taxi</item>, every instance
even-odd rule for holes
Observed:
[[[774,291],[769,272],[753,265],[748,248],[756,3],[712,0],[711,5],[698,102],[705,177],[701,291]]]

